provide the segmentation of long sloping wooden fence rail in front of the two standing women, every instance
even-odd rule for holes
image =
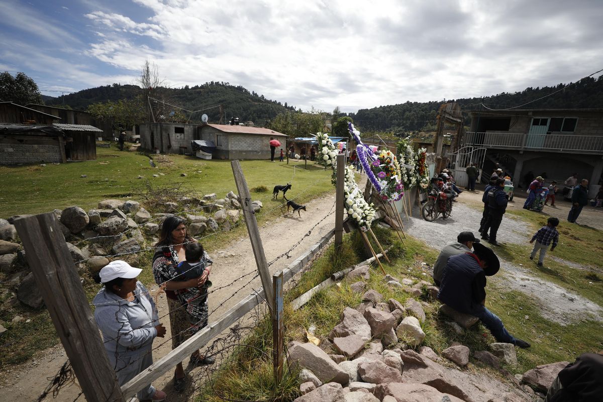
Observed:
[[[186,359],[189,354],[193,353],[198,348],[203,347],[212,338],[219,335],[239,318],[250,312],[253,307],[256,307],[264,300],[264,297],[264,289],[260,287],[260,289],[257,290],[257,294],[251,294],[239,301],[239,303],[235,304],[235,306],[216,319],[215,322],[198,331],[191,336],[191,338],[180,344],[179,347],[175,348],[170,353],[157,360],[157,362],[154,362],[145,371],[125,383],[121,387],[121,391],[127,396],[136,394],[140,389],[145,388],[145,386],[152,383],[154,380],[157,380],[157,378],[171,370],[172,367]]]

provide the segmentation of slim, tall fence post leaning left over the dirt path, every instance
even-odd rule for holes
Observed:
[[[241,198],[245,225],[247,225],[253,255],[256,257],[257,271],[262,279],[262,287],[264,287],[264,293],[266,295],[266,304],[268,304],[270,310],[274,311],[272,305],[274,297],[272,294],[270,271],[268,271],[268,262],[266,261],[266,255],[264,254],[264,246],[262,245],[260,231],[259,228],[257,228],[256,215],[253,212],[253,207],[251,206],[251,195],[247,187],[247,181],[245,181],[245,175],[241,169],[241,163],[239,163],[238,160],[233,160],[230,162],[230,165],[232,166],[232,172],[235,175],[236,189],[239,192],[239,197]]]

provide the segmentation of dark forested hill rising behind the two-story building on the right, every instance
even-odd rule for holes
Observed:
[[[522,92],[500,93],[490,98],[451,99],[458,102],[461,110],[480,110],[482,103],[493,109],[513,107],[551,95],[566,84],[553,87],[526,88]],[[365,131],[387,131],[392,133],[435,129],[437,111],[444,101],[405,102],[397,105],[360,109],[350,113],[355,124]],[[603,76],[598,79],[585,78],[547,98],[532,102],[522,108],[603,108]]]

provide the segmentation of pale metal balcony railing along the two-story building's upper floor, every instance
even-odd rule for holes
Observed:
[[[526,149],[538,151],[582,151],[603,154],[602,136],[575,134],[476,133],[469,131],[464,145],[484,148]]]

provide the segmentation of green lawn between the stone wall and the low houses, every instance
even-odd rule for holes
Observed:
[[[185,155],[161,157],[152,155],[156,168],[151,168],[149,158],[140,152],[96,148],[96,160],[69,162],[60,165],[0,167],[4,184],[0,196],[0,216],[49,212],[55,208],[77,205],[84,210],[95,208],[98,201],[135,195],[147,180],[153,186],[182,185],[182,189],[198,193],[216,193],[223,198],[227,192],[236,193],[235,181],[228,160],[202,160]],[[330,183],[330,169],[303,162],[270,162],[269,160],[244,160],[241,162],[248,186],[265,186],[268,191],[252,193],[253,199],[271,203],[272,189],[276,184],[292,182],[288,198],[301,194],[303,203],[334,187]],[[180,174],[185,173],[186,177]],[[153,174],[159,177],[153,177]],[[81,177],[86,175],[86,177]],[[143,176],[144,178],[137,178]],[[308,188],[309,187],[309,188]]]

